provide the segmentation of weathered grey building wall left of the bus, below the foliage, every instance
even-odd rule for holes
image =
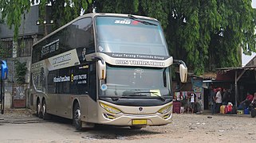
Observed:
[[[14,29],[9,29],[6,24],[0,25],[0,41],[2,43],[2,48],[10,49],[9,58],[5,59],[9,68],[8,79],[5,82],[5,94],[6,94],[6,104],[5,108],[14,107],[14,97],[17,95],[26,94],[26,104],[28,107],[28,94],[30,85],[30,66],[31,66],[31,51],[32,45],[38,39],[44,35],[44,25],[36,25],[36,21],[39,20],[38,6],[31,6],[29,13],[26,14],[26,19],[22,16],[22,25],[19,28],[18,42],[14,43]],[[15,78],[15,68],[14,60],[18,60],[21,63],[26,62],[26,84],[17,85]],[[17,90],[20,87],[26,87],[26,91],[20,94]],[[22,88],[23,89],[23,88]],[[15,95],[16,94],[16,95]]]

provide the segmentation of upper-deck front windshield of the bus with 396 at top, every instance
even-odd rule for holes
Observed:
[[[158,21],[132,17],[96,17],[97,52],[168,56]]]

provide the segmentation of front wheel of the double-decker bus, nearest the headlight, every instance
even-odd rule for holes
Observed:
[[[73,106],[73,125],[76,127],[77,130],[82,129],[81,110],[77,102]]]

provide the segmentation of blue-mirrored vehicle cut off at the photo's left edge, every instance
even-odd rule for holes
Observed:
[[[4,113],[5,110],[5,83],[4,80],[7,79],[8,75],[8,67],[6,64],[6,60],[0,60],[0,111],[1,114]]]

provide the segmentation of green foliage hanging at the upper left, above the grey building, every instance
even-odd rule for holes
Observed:
[[[57,21],[55,28],[65,25],[68,21],[79,16],[81,9],[89,12],[89,7],[92,5],[92,0],[1,0],[1,19],[6,18],[6,24],[10,29],[14,27],[14,41],[18,41],[18,28],[21,26],[22,15],[29,12],[30,6],[38,2],[41,18],[45,17],[45,7],[49,3],[51,4],[51,18]]]

